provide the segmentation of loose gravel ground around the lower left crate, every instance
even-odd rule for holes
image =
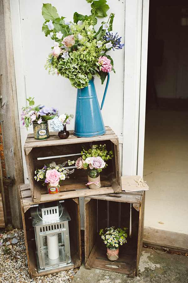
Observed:
[[[24,231],[13,229],[8,225],[0,228],[0,282],[53,282],[69,283],[74,278],[78,268],[65,270],[35,278],[29,277]]]

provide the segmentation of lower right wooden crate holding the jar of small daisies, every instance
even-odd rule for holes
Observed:
[[[122,192],[84,198],[86,268],[137,276],[143,243],[144,199],[145,192]],[[99,236],[100,229],[105,231],[106,227],[112,226],[128,228],[127,243],[120,245],[119,258],[114,263],[108,260],[107,247]]]

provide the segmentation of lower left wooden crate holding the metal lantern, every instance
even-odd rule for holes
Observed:
[[[53,270],[45,270],[38,273],[37,260],[36,260],[36,241],[34,227],[31,221],[30,207],[36,205],[32,201],[31,191],[29,184],[21,184],[19,186],[22,220],[24,226],[25,246],[28,259],[28,268],[30,277],[36,277],[39,275],[50,274],[62,270],[68,270],[71,268],[77,268],[81,266],[81,230],[80,230],[80,208],[79,198],[72,198],[65,200],[65,206],[69,212],[71,220],[69,225],[69,238],[70,238],[70,256],[73,264],[56,268]]]

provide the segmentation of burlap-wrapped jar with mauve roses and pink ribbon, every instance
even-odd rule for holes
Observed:
[[[68,164],[76,165],[77,169],[88,170],[88,183],[90,189],[99,189],[101,187],[100,172],[107,166],[105,162],[113,157],[112,151],[107,152],[106,144],[91,145],[89,150],[81,151],[82,157],[79,157],[76,162],[68,160]]]

